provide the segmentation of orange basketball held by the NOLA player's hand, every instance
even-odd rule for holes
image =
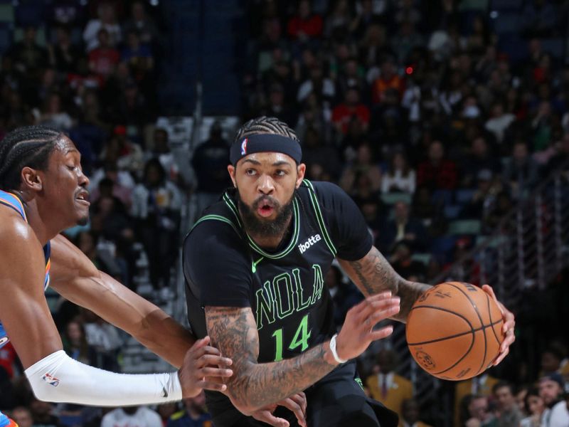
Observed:
[[[484,290],[448,282],[427,290],[411,308],[407,344],[429,374],[454,381],[482,374],[504,340],[501,311]]]

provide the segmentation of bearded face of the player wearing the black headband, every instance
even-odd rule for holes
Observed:
[[[283,206],[291,201],[294,190],[304,178],[304,164],[297,167],[287,154],[254,153],[229,166],[233,185],[240,200],[259,221],[275,221]]]

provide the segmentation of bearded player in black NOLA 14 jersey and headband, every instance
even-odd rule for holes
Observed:
[[[304,390],[310,427],[396,426],[395,413],[366,398],[353,359],[392,332],[373,330],[378,321],[405,322],[429,285],[400,278],[373,247],[349,196],[334,184],[305,180],[301,159],[285,123],[247,122],[230,152],[235,188],[204,211],[184,242],[193,332],[209,335],[233,359],[228,397],[206,391],[208,409],[216,427],[260,426],[239,411]],[[366,295],[339,334],[324,288],[334,258]],[[514,341],[514,315],[501,309],[506,339],[496,364]]]

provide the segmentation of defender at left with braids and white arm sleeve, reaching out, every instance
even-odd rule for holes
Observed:
[[[231,360],[209,345],[209,337],[196,342],[58,236],[86,223],[87,184],[78,150],[56,130],[23,127],[0,142],[0,347],[11,339],[34,394],[46,401],[126,406],[178,401],[201,389],[224,391],[214,380],[232,374]],[[71,359],[43,295],[49,285],[181,369],[116,374]],[[0,414],[0,426],[11,425]]]

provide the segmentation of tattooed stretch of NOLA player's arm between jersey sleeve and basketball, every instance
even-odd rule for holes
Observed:
[[[403,279],[374,246],[361,260],[339,260],[339,263],[363,295],[373,295],[384,290],[398,295],[401,298],[401,310],[394,318],[400,322],[407,320],[413,303],[431,287]]]

